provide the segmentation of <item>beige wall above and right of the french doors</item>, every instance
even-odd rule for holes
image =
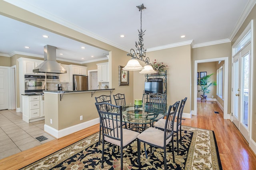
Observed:
[[[252,46],[252,75],[254,75],[252,77],[252,89],[251,92],[256,92],[256,86],[254,84],[256,84],[256,60],[255,60],[255,51],[256,51],[256,6],[254,6],[254,8],[252,9],[252,11],[250,12],[250,14],[247,16],[246,20],[244,21],[244,23],[242,24],[242,26],[240,27],[240,29],[238,30],[238,32],[236,33],[236,35],[234,36],[234,38],[232,39],[232,45],[235,43],[235,41],[238,39],[238,37],[242,34],[242,32],[244,31],[244,29],[246,28],[246,26],[249,24],[249,22],[253,20],[253,34],[252,34],[252,42],[254,43],[254,45]],[[254,104],[256,102],[256,95],[254,93],[250,94],[250,96],[252,97],[252,139],[254,140],[254,142],[256,142],[256,105]]]

